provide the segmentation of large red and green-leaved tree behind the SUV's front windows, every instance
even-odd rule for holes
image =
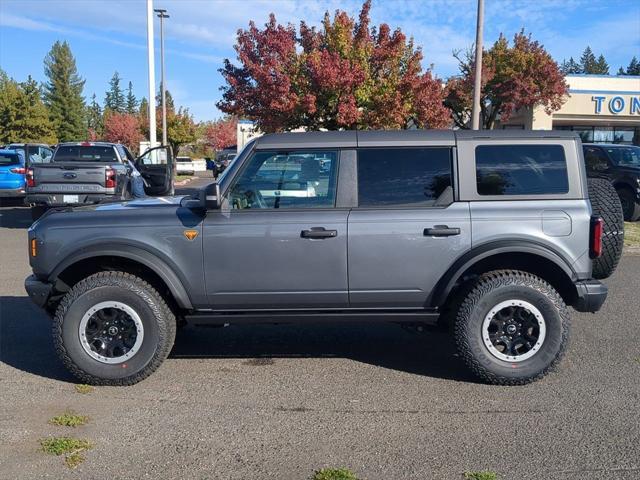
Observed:
[[[273,14],[263,30],[239,30],[240,66],[225,59],[227,84],[218,108],[255,121],[265,132],[318,129],[443,128],[444,90],[422,71],[422,51],[387,24],[369,26],[371,0],[356,22],[327,12],[322,27],[282,26]]]

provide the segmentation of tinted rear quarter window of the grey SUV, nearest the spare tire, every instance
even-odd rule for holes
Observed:
[[[479,195],[569,192],[561,145],[479,145],[475,150]]]

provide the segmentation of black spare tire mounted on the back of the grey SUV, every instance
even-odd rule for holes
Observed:
[[[602,255],[593,261],[593,277],[608,278],[615,271],[624,244],[624,215],[618,192],[608,180],[589,178],[589,199],[594,215],[604,220]]]

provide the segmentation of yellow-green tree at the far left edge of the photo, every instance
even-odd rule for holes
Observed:
[[[0,142],[55,143],[49,112],[31,76],[18,83],[0,70]]]

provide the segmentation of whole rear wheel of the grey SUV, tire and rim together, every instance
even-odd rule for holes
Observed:
[[[569,339],[569,312],[547,282],[527,272],[482,275],[454,320],[458,352],[471,371],[498,385],[538,380],[560,361]]]

